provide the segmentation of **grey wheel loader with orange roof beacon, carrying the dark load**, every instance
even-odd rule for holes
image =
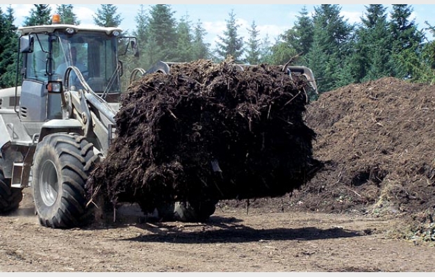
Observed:
[[[23,189],[31,187],[41,225],[76,228],[89,218],[86,181],[116,139],[124,52],[119,47],[126,46],[124,54],[127,49],[138,54],[136,38],[121,33],[58,19],[19,28],[17,80],[22,82],[0,90],[0,214],[17,210]],[[74,65],[73,48],[84,68]],[[65,72],[58,72],[63,63]],[[293,70],[315,86],[311,70]],[[170,63],[136,69],[131,80],[150,72],[170,74]],[[192,221],[213,214],[214,205],[208,203],[206,214],[188,203],[159,210],[165,217],[177,214],[176,219]]]

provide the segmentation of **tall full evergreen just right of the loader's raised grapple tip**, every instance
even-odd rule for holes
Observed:
[[[307,54],[307,65],[317,76],[319,91],[325,92],[349,84],[350,74],[343,74],[348,68],[345,62],[350,56],[350,40],[354,26],[340,16],[337,4],[322,4],[314,8],[313,45]]]

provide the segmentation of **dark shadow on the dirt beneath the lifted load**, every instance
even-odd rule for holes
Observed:
[[[262,228],[257,230],[243,225],[243,221],[239,219],[220,216],[211,216],[206,223],[142,223],[136,227],[144,230],[144,234],[125,239],[126,241],[219,244],[288,240],[315,241],[363,236],[361,232],[343,228]]]

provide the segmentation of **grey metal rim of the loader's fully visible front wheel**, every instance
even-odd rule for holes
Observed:
[[[58,198],[58,171],[51,161],[45,161],[40,176],[40,194],[44,204],[50,207]]]

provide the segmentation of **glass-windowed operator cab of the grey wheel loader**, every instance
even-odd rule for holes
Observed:
[[[19,31],[23,81],[16,109],[35,134],[38,123],[62,119],[60,93],[47,90],[51,81],[61,81],[63,91],[85,89],[85,84],[108,102],[118,100],[122,75],[117,56],[120,29],[52,24],[26,26]],[[83,67],[74,64],[72,49]]]

